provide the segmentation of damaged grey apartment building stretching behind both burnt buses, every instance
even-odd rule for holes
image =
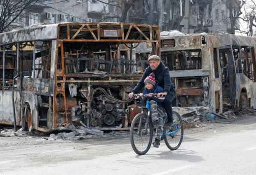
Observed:
[[[239,9],[240,1],[235,0],[237,5],[232,7],[228,1],[137,0],[128,10],[125,22],[159,25],[161,31],[232,32],[229,9]],[[28,15],[18,18],[12,28],[39,23],[120,22],[122,10],[115,5],[122,5],[122,1],[45,1],[28,9]]]

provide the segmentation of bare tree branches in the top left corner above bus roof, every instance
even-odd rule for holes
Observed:
[[[6,31],[22,14],[43,0],[0,0],[0,33]]]

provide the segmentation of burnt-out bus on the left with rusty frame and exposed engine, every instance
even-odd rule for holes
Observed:
[[[1,33],[0,124],[44,132],[79,122],[127,129],[140,43],[160,55],[159,27],[60,23]]]

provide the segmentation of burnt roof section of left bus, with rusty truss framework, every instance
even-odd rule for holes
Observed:
[[[58,36],[58,30],[60,36]],[[106,32],[104,33],[104,31]],[[116,36],[111,33],[113,31],[116,31],[114,33]],[[58,38],[63,41],[156,42],[160,41],[160,30],[159,26],[156,25],[133,23],[45,24],[1,33],[0,46],[17,42],[56,40]]]

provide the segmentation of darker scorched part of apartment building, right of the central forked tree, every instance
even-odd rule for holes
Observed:
[[[230,32],[229,9],[239,8],[236,2],[230,8],[226,0],[138,0],[128,22],[157,24],[161,31]]]

